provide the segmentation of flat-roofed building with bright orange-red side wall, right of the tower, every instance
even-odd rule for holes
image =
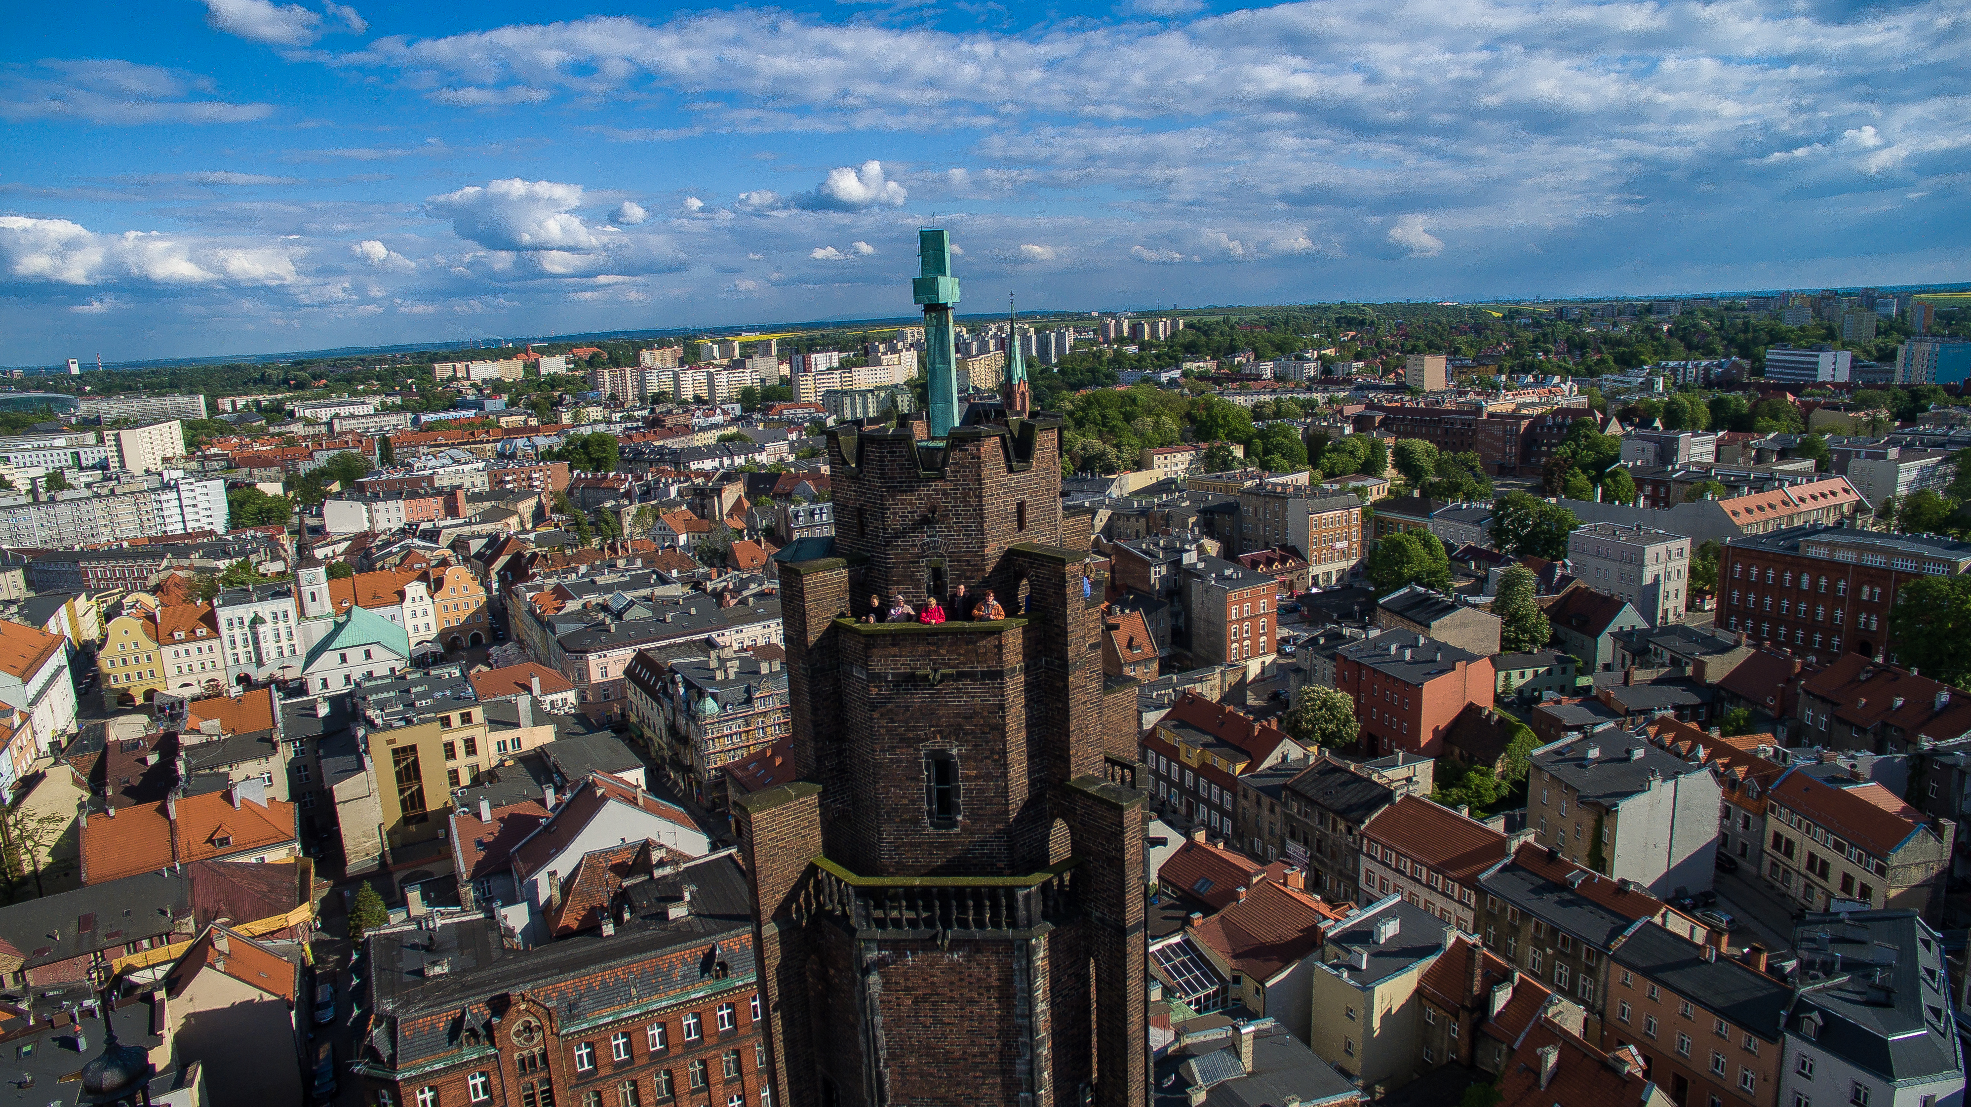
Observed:
[[[1368,756],[1439,756],[1466,703],[1492,705],[1492,658],[1425,634],[1384,630],[1334,652],[1334,687],[1354,699]]]

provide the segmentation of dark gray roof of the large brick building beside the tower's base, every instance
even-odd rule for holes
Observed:
[[[457,1014],[487,1024],[485,1003],[520,989],[556,1005],[564,1020],[646,1005],[656,997],[684,995],[710,979],[700,957],[656,957],[674,947],[715,944],[729,979],[745,979],[753,963],[753,912],[745,875],[729,851],[696,859],[646,880],[645,896],[629,896],[633,916],[613,936],[595,932],[562,938],[534,949],[509,949],[499,920],[471,914],[434,930],[414,924],[365,938],[369,965],[371,1032],[365,1050],[382,1064],[410,1066],[457,1050]],[[668,900],[692,884],[690,914],[666,918]],[[436,940],[436,942],[434,942]],[[436,945],[436,947],[428,947]],[[445,971],[426,973],[426,965]],[[639,971],[623,971],[639,965]]]

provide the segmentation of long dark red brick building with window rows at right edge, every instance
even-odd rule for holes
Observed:
[[[1971,542],[1792,526],[1733,538],[1719,557],[1717,624],[1809,658],[1892,650],[1888,613],[1916,577],[1971,571]]]

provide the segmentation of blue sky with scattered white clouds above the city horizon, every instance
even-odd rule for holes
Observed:
[[[1961,0],[30,6],[8,364],[1971,280]]]

